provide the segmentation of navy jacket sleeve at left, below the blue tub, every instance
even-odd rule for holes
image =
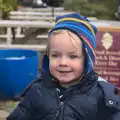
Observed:
[[[7,120],[32,120],[32,103],[34,101],[34,94],[35,88],[31,87],[16,109],[7,117]]]

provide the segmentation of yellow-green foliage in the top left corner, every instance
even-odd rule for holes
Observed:
[[[0,0],[0,12],[3,19],[7,19],[9,12],[15,10],[17,7],[17,0]]]

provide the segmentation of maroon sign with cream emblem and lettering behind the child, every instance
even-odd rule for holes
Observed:
[[[120,30],[97,33],[95,71],[120,88]]]

